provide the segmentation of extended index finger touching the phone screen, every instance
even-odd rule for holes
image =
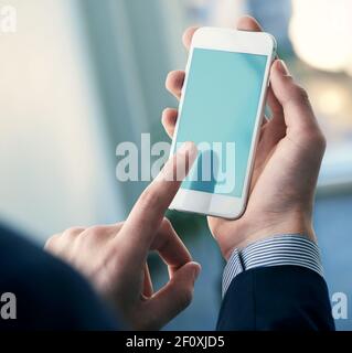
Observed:
[[[193,142],[185,142],[166,163],[157,179],[143,191],[119,234],[128,236],[130,244],[141,244],[149,250],[164,213],[180,189],[196,157]],[[136,243],[135,243],[135,242]]]

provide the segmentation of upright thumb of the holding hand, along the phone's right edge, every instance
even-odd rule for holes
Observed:
[[[318,128],[306,90],[295,82],[284,61],[274,62],[270,84],[277,100],[282,106],[285,122],[289,129],[307,131]]]

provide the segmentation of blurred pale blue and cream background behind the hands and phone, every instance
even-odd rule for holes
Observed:
[[[0,216],[38,244],[73,225],[124,220],[143,183],[119,183],[116,146],[168,140],[161,111],[183,30],[256,17],[308,89],[328,137],[316,229],[330,292],[352,300],[352,2],[350,0],[0,0],[17,9],[0,33]],[[0,21],[3,13],[0,12]],[[191,307],[167,330],[212,330],[223,260],[203,217],[170,213],[203,266]],[[166,271],[150,264],[156,285]],[[337,320],[352,330],[349,319]]]

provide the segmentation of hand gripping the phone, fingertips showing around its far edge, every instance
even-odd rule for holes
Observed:
[[[260,31],[249,17],[242,18],[237,28]],[[184,33],[186,49],[195,31],[191,28]],[[307,93],[295,83],[282,61],[275,61],[270,75],[268,105],[273,117],[262,126],[247,208],[236,221],[209,217],[226,259],[234,248],[276,234],[300,233],[316,240],[312,206],[326,140]],[[167,88],[177,98],[183,81],[183,71],[168,75]],[[163,111],[162,124],[170,137],[177,118],[178,110]]]

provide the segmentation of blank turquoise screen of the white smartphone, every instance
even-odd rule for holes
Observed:
[[[182,189],[242,197],[267,55],[194,49],[177,145],[199,157]]]

